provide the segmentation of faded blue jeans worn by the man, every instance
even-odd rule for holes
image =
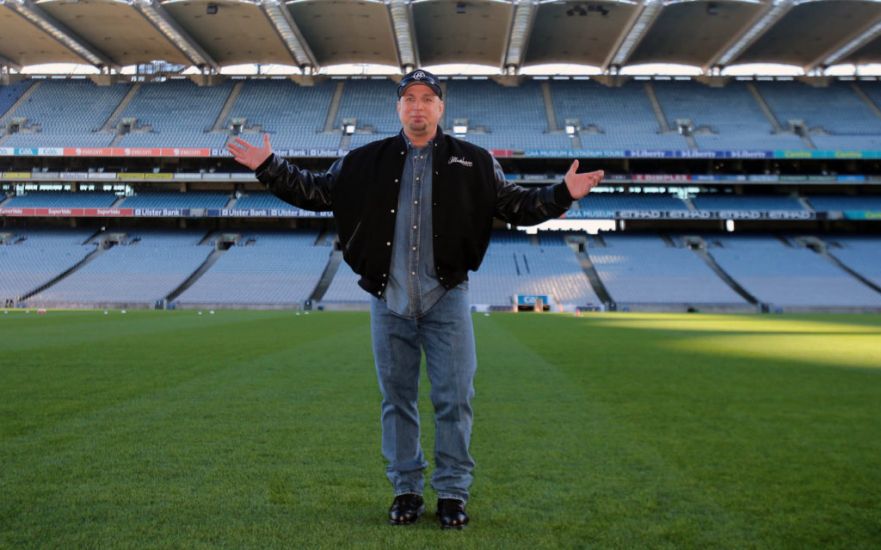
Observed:
[[[423,491],[428,466],[419,442],[419,366],[422,351],[434,405],[435,470],[431,486],[438,498],[468,500],[474,460],[471,399],[477,353],[468,291],[456,287],[424,315],[408,319],[373,298],[370,328],[382,392],[382,454],[395,495]]]

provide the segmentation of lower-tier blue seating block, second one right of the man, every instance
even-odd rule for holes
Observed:
[[[697,254],[658,235],[603,236],[587,250],[619,309],[743,307],[747,302]]]

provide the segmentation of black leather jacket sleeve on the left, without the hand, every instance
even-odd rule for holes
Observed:
[[[316,212],[333,207],[334,183],[339,177],[343,159],[334,162],[327,172],[314,173],[272,154],[257,167],[255,174],[269,191],[281,200]]]

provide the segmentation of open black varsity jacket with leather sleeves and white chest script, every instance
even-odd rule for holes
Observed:
[[[489,246],[493,217],[534,225],[559,217],[572,203],[561,182],[526,189],[494,169],[486,150],[444,134],[432,155],[434,259],[440,283],[453,288],[475,271]],[[327,172],[300,170],[272,155],[257,179],[285,202],[307,210],[332,210],[343,258],[361,276],[358,284],[382,296],[388,282],[407,143],[403,134],[349,152]]]

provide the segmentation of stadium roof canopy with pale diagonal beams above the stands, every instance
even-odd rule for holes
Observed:
[[[865,0],[0,0],[0,66],[881,62]]]

